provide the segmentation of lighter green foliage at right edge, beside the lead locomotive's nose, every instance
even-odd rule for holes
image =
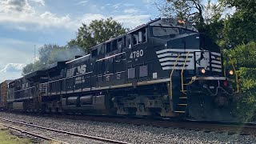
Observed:
[[[256,115],[256,42],[249,42],[228,50],[239,76],[237,113],[243,121],[255,120]]]

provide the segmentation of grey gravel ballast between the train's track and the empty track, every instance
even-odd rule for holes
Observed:
[[[131,143],[256,143],[254,135],[228,134],[227,132],[212,131],[206,133],[202,130],[91,122],[3,112],[0,112],[0,118],[30,122],[38,126]]]

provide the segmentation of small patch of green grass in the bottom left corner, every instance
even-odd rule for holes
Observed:
[[[10,130],[0,125],[0,143],[1,144],[30,144],[29,138],[18,138],[10,134]]]

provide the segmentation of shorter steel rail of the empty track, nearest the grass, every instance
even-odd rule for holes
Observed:
[[[62,142],[62,141],[58,141],[58,140],[53,139],[53,138],[48,138],[48,137],[45,137],[45,136],[42,136],[42,135],[39,135],[39,134],[34,134],[34,133],[31,133],[31,132],[26,131],[26,130],[19,129],[19,128],[14,127],[14,126],[6,125],[6,124],[3,124],[3,123],[0,123],[0,124],[2,126],[8,127],[9,129],[17,130],[19,132],[22,132],[22,134],[28,134],[28,135],[31,135],[33,137],[40,138],[40,139],[43,139],[43,140],[46,140],[46,141],[53,141],[53,142],[59,142],[59,143],[63,143],[63,144],[68,144],[67,142]]]

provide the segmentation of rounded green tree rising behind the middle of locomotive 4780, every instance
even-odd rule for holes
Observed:
[[[79,46],[89,52],[92,46],[125,33],[126,29],[122,27],[122,24],[114,21],[113,18],[94,20],[90,22],[89,26],[82,23],[76,38],[71,39],[68,46]]]

